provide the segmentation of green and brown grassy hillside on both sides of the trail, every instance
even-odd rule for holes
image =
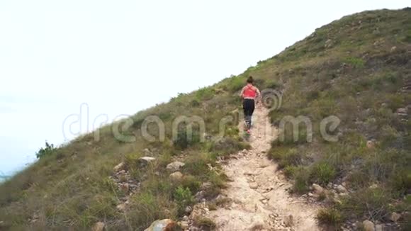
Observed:
[[[222,118],[237,118],[237,92],[252,75],[260,89],[283,91],[281,108],[270,114],[274,125],[284,116],[306,116],[313,124],[312,142],[306,141],[303,125],[299,139],[291,140],[288,123],[281,130],[285,140],[274,142],[268,153],[294,182],[293,192],[306,193],[313,183],[325,188],[344,183],[350,191],[346,196],[322,196],[322,222],[384,222],[392,212],[410,210],[410,60],[410,9],[344,17],[239,76],[179,94],[130,120],[44,152],[38,162],[1,184],[0,221],[4,228],[80,230],[103,221],[111,230],[142,230],[158,218],[178,219],[186,205],[195,203],[198,191],[210,199],[224,187],[215,160],[248,147],[237,120],[227,123],[225,137],[215,137]],[[164,122],[164,141],[152,124],[148,131],[157,140],[142,136],[143,121],[152,115]],[[205,134],[195,124],[193,139],[186,139],[181,127],[173,140],[171,124],[182,115],[203,118]],[[328,116],[339,118],[335,130],[326,128],[337,142],[320,135],[320,123]],[[119,139],[113,128],[132,139]],[[207,139],[201,142],[201,137]],[[142,165],[143,156],[156,160]],[[185,163],[181,181],[169,180],[166,167],[174,160]],[[129,173],[125,180],[138,186],[125,211],[116,208],[126,196],[113,177],[120,162]],[[209,183],[206,189],[204,182]],[[400,222],[405,227],[409,219],[403,213]]]

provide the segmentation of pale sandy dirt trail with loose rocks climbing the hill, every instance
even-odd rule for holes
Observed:
[[[249,139],[252,150],[232,155],[223,164],[230,182],[222,195],[232,203],[208,213],[216,230],[320,230],[315,220],[317,208],[293,198],[286,191],[291,184],[266,157],[276,138],[268,112],[262,107],[254,112]]]

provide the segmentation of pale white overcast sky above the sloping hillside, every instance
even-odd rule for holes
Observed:
[[[71,139],[75,134],[64,135],[63,122],[81,103],[91,121],[131,115],[240,74],[347,14],[405,6],[409,2],[386,0],[1,0],[0,171],[21,169],[45,140]]]

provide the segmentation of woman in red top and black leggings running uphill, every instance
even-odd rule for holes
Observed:
[[[253,82],[254,79],[252,77],[248,77],[247,85],[242,88],[240,94],[242,97],[242,108],[244,109],[244,120],[247,133],[249,133],[249,129],[252,125],[251,117],[252,113],[254,113],[256,99],[261,96],[259,89],[253,85]]]

